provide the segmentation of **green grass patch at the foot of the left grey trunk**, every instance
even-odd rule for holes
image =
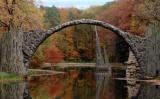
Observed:
[[[14,74],[14,73],[7,73],[7,72],[0,72],[0,81],[20,81],[23,80],[23,76]]]

